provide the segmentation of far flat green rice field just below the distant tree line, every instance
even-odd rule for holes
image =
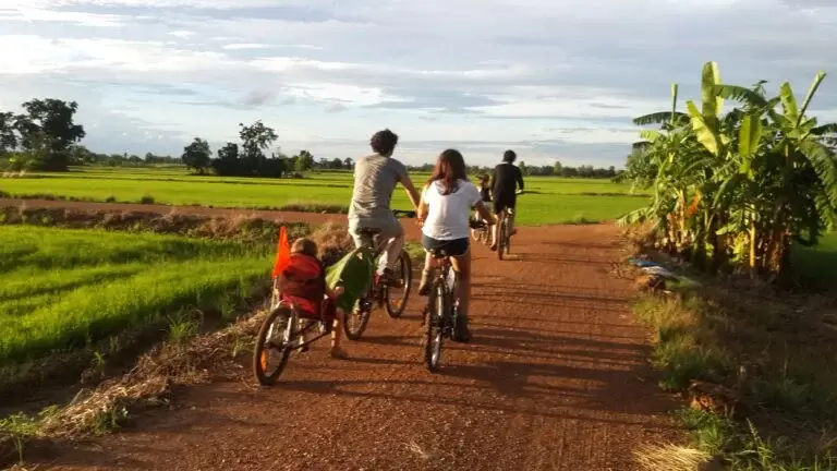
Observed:
[[[0,180],[0,193],[129,203],[150,196],[158,204],[281,208],[345,206],[352,185],[349,172],[311,173],[305,179],[248,179],[190,176],[178,169],[99,168],[32,177]],[[420,185],[427,176],[415,173],[412,178]],[[526,194],[519,197],[518,221],[526,226],[609,220],[646,202],[643,195],[630,194],[629,185],[608,180],[531,177],[525,182]],[[392,206],[410,208],[400,188]]]

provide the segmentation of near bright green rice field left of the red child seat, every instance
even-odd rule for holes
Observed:
[[[0,226],[0,364],[222,305],[266,279],[271,256],[233,241]]]

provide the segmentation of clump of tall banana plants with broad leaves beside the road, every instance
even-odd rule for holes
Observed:
[[[825,74],[816,75],[800,105],[789,83],[767,98],[764,81],[751,87],[723,84],[718,65],[701,74],[701,101],[634,120],[658,124],[641,133],[628,162],[635,185],[653,186],[650,206],[623,218],[653,219],[662,245],[718,263],[778,274],[790,240],[815,243],[837,222],[837,124],[818,124],[806,111]],[[740,105],[726,114],[725,100]],[[833,141],[828,141],[833,140]],[[832,147],[829,147],[832,145]]]

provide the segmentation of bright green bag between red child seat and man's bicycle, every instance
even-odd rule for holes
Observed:
[[[336,264],[326,268],[326,285],[335,289],[343,287],[343,293],[335,303],[338,309],[351,312],[359,299],[366,294],[375,273],[375,254],[368,247],[355,249]]]

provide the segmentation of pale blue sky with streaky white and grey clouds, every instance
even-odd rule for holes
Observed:
[[[790,81],[837,121],[835,0],[0,0],[0,109],[78,102],[95,152],[213,149],[239,123],[281,152],[620,167],[631,119],[724,82]],[[833,67],[836,70],[828,70]],[[682,102],[681,102],[682,106]]]

